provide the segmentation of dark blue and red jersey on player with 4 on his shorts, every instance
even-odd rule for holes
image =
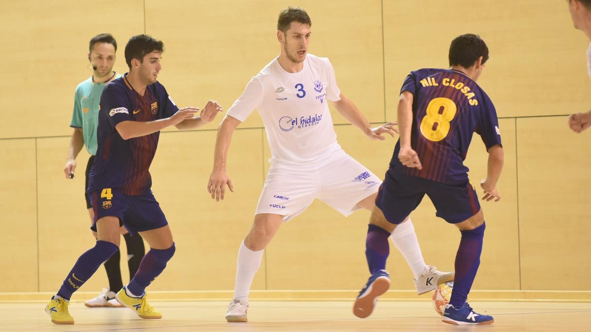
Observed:
[[[115,126],[123,121],[148,122],[169,118],[178,107],[158,82],[146,87],[140,96],[129,84],[127,74],[107,84],[100,97],[98,148],[89,175],[87,192],[118,188],[126,195],[150,192],[150,164],[154,159],[160,132],[122,139]]]

